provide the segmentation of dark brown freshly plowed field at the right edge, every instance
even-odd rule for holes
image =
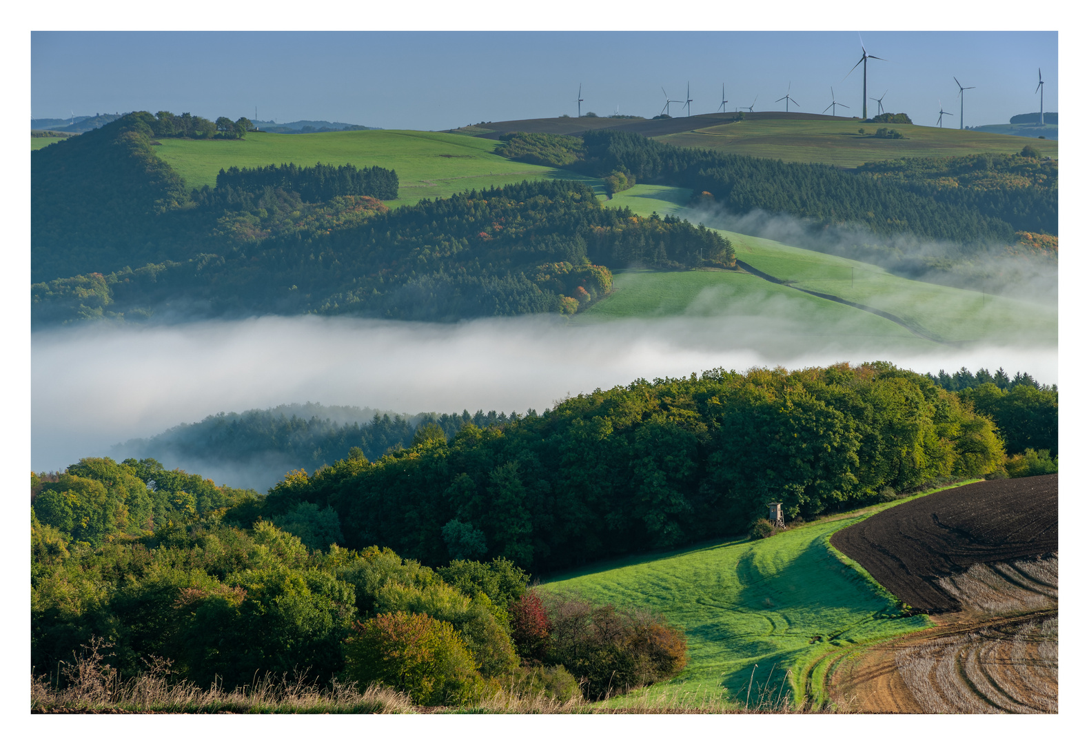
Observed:
[[[976,564],[1059,550],[1059,477],[978,481],[939,491],[840,530],[831,541],[907,604],[931,613],[958,611],[964,591],[946,578]],[[1038,579],[1016,562],[991,571],[1002,573],[1007,584],[1036,590]]]

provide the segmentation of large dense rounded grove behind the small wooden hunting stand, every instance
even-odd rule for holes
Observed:
[[[772,499],[809,520],[1004,460],[993,423],[885,364],[639,380],[437,435],[296,474],[254,516],[306,502],[337,512],[350,548],[550,572],[744,533]]]

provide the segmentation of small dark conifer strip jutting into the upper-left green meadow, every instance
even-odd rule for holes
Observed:
[[[376,199],[397,198],[397,173],[374,166],[356,168],[346,166],[299,167],[294,163],[259,168],[220,169],[216,176],[216,191],[233,188],[240,192],[264,192],[265,188],[296,192],[304,201],[328,201],[333,197],[364,195]]]

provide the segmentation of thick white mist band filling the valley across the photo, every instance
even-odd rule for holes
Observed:
[[[1001,366],[1059,382],[1052,345],[903,344],[736,316],[580,326],[555,317],[441,325],[306,316],[49,330],[32,340],[32,467],[124,457],[112,445],[217,412],[291,402],[541,412],[637,378],[873,359],[919,373]]]

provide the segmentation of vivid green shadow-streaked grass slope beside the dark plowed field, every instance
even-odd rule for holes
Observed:
[[[690,660],[664,684],[668,688],[744,701],[757,664],[757,677],[770,674],[774,686],[791,670],[796,699],[808,686],[820,701],[825,657],[847,645],[932,625],[923,615],[901,618],[892,597],[828,544],[836,530],[904,501],[831,516],[766,540],[735,538],[599,564],[554,577],[542,588],[649,607],[684,628]]]

